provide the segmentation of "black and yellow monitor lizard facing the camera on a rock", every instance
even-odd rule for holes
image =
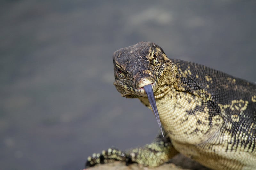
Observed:
[[[177,153],[211,169],[256,169],[256,85],[187,61],[168,59],[152,42],[113,54],[121,95],[151,108],[152,87],[164,137],[142,148],[104,150],[86,166],[113,160],[156,167]]]

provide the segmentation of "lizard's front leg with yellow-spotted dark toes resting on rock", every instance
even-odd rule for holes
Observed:
[[[169,137],[163,137],[160,133],[151,144],[143,147],[132,148],[126,151],[109,148],[101,154],[93,154],[88,157],[86,167],[99,163],[108,163],[115,160],[125,161],[126,165],[138,163],[140,166],[156,167],[171,159],[178,153],[172,146]]]

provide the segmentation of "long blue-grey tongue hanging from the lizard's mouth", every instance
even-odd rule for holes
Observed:
[[[162,132],[162,135],[164,137],[164,134],[163,134],[163,130],[162,130],[162,125],[161,125],[161,122],[160,122],[160,118],[159,118],[159,114],[158,114],[158,110],[157,110],[157,106],[156,106],[156,100],[155,100],[155,97],[154,97],[154,92],[153,92],[153,89],[152,89],[152,86],[151,85],[145,85],[143,86],[147,96],[148,96],[148,100],[149,100],[149,103],[153,109],[153,112],[156,116],[156,120],[157,120],[157,123],[159,125],[159,128]]]

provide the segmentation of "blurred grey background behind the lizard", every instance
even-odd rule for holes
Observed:
[[[139,41],[255,82],[255,18],[256,1],[2,0],[1,169],[82,169],[151,142],[154,115],[113,85],[113,52]]]

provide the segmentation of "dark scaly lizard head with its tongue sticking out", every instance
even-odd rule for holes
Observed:
[[[164,94],[174,78],[173,63],[162,48],[152,42],[139,42],[113,54],[114,85],[123,97],[147,97],[161,129],[155,95]],[[163,95],[162,95],[163,96]],[[163,134],[163,132],[162,132]],[[164,136],[164,135],[163,135]]]

